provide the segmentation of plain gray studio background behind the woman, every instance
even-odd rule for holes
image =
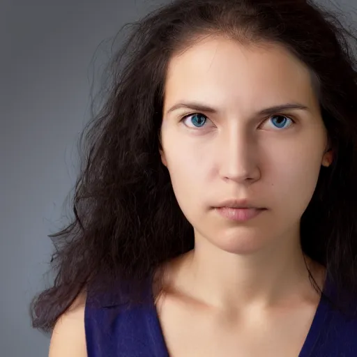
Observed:
[[[165,1],[0,0],[1,357],[47,356],[49,337],[31,328],[28,307],[50,282],[47,234],[70,213],[90,89],[116,32],[158,3]],[[357,8],[356,0],[335,3]]]

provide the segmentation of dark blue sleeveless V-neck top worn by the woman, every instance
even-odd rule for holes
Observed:
[[[324,293],[333,296],[328,279]],[[100,298],[96,305],[89,291],[84,313],[88,357],[169,357],[151,279],[146,294],[148,303],[128,308],[115,294]],[[322,296],[305,343],[296,357],[342,356],[357,356],[357,318],[348,319]]]

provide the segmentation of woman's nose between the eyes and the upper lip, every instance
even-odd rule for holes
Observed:
[[[253,137],[238,130],[222,136],[220,151],[220,176],[224,181],[254,183],[261,172],[258,150]]]

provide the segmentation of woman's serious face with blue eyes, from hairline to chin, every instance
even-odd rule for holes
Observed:
[[[169,62],[162,117],[162,162],[196,239],[243,253],[299,234],[331,161],[303,63],[279,45],[202,40]],[[227,200],[266,209],[227,218],[215,209]]]

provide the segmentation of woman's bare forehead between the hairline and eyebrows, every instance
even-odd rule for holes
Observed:
[[[206,38],[172,56],[165,80],[165,107],[197,99],[248,107],[314,101],[310,70],[282,45],[241,45]]]

